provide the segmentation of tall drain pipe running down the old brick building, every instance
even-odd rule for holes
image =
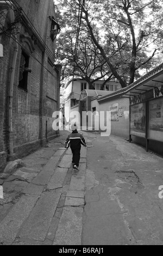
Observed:
[[[14,8],[11,2],[9,1],[0,1],[0,5],[8,5],[9,13],[10,13],[10,21],[14,23]],[[13,88],[14,88],[14,77],[15,77],[15,66],[16,66],[16,59],[17,59],[17,52],[18,52],[18,44],[17,44],[17,36],[15,30],[15,40],[13,40],[14,44],[14,55],[12,59],[12,66],[11,66],[11,75],[10,75],[10,84],[9,84],[9,116],[8,116],[8,124],[9,124],[9,157],[12,157],[14,154],[13,151],[13,138],[12,138],[12,101],[13,101]]]

